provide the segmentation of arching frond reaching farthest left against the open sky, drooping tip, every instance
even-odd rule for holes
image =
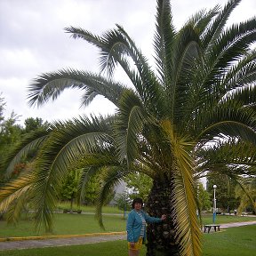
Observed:
[[[87,99],[90,101],[92,95],[94,96],[96,93],[104,96],[117,106],[120,94],[124,91],[125,86],[90,72],[71,68],[61,69],[57,72],[44,73],[29,85],[28,103],[31,106],[35,104],[41,106],[50,99],[56,100],[60,96],[60,92],[68,88],[84,90],[84,102]]]

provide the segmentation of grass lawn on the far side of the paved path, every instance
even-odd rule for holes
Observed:
[[[108,210],[109,211],[109,210]],[[109,213],[109,212],[108,212]],[[116,212],[115,212],[116,213]],[[103,215],[103,222],[106,230],[100,228],[97,220],[94,219],[93,214],[64,214],[56,213],[54,215],[54,229],[52,234],[45,234],[44,231],[36,232],[34,230],[33,220],[29,220],[29,216],[25,220],[20,220],[19,225],[7,225],[4,220],[0,221],[0,237],[12,236],[44,236],[44,235],[75,235],[86,233],[99,233],[99,232],[113,232],[124,231],[126,220],[122,214],[120,215]],[[228,223],[256,220],[252,217],[239,217],[239,216],[218,216],[216,223]],[[203,217],[203,224],[212,223],[212,215],[205,215]]]

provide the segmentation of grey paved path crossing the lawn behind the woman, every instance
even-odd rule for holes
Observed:
[[[244,221],[220,224],[220,228],[234,228],[245,225],[256,225],[255,221]],[[73,236],[67,238],[52,238],[52,239],[32,239],[32,240],[21,240],[21,241],[6,241],[0,242],[0,251],[3,250],[16,250],[16,249],[28,249],[28,248],[42,248],[42,247],[55,247],[55,246],[65,246],[65,245],[76,245],[76,244],[95,244],[107,241],[116,241],[126,239],[125,234],[105,234],[103,236]]]

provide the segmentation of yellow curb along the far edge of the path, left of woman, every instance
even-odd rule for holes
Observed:
[[[126,231],[121,232],[108,232],[108,233],[88,233],[78,235],[56,235],[56,236],[23,236],[23,237],[0,237],[0,242],[7,241],[25,241],[25,240],[44,240],[54,238],[72,238],[72,237],[85,237],[85,236],[115,236],[115,235],[126,235]]]

